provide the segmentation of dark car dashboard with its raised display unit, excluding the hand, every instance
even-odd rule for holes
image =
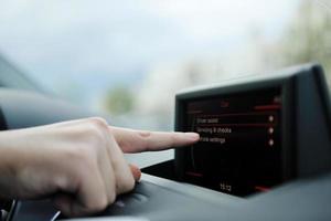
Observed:
[[[319,64],[179,92],[174,130],[200,141],[142,168],[132,192],[83,220],[328,220],[329,94]],[[0,97],[2,129],[93,116],[36,91]],[[8,220],[68,219],[50,200],[19,200]]]

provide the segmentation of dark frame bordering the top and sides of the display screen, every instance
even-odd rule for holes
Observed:
[[[194,99],[207,99],[215,96],[231,96],[239,93],[254,93],[266,90],[279,88],[281,97],[281,181],[296,177],[296,159],[293,155],[295,147],[295,83],[292,77],[270,78],[250,83],[239,83],[228,86],[216,86],[205,90],[196,90],[188,93],[178,94],[175,97],[175,130],[184,130],[184,109],[185,104]],[[185,148],[175,150],[174,167],[179,180],[184,177]]]

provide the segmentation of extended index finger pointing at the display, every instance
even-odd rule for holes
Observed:
[[[124,152],[163,150],[192,145],[200,138],[196,133],[147,131],[111,126],[109,130]]]

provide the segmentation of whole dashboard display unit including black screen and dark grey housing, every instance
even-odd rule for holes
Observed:
[[[329,171],[330,113],[318,64],[179,92],[175,130],[201,138],[175,149],[175,179],[246,197]]]

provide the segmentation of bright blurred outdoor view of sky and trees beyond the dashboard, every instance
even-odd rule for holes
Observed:
[[[330,0],[0,0],[0,74],[172,130],[182,88],[319,62],[331,83]]]

